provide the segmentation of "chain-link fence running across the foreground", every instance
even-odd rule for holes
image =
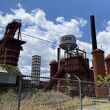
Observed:
[[[47,90],[50,78],[0,74],[0,110],[83,110],[99,99],[107,100],[107,86],[76,79],[56,78]],[[97,86],[101,98],[96,97]]]

